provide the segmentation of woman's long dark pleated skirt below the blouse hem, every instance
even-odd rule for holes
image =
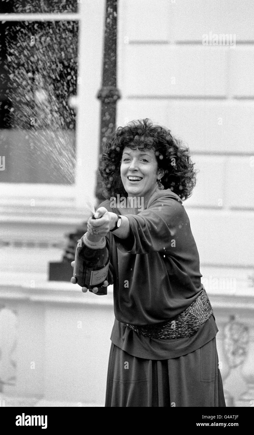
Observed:
[[[111,344],[106,407],[225,407],[216,338],[178,358],[136,358]]]

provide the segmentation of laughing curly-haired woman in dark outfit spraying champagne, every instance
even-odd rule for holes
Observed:
[[[147,118],[119,127],[104,147],[108,199],[88,232],[110,245],[106,407],[226,406],[218,328],[182,204],[195,186],[193,167],[188,148]]]

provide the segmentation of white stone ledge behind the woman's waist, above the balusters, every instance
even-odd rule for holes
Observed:
[[[203,275],[202,282],[205,279]],[[113,305],[113,286],[108,287],[108,294],[97,296],[91,292],[82,293],[80,286],[66,281],[48,281],[44,273],[0,274],[0,300],[30,301],[75,305]],[[208,288],[206,291],[213,308],[226,310],[254,310],[254,289],[243,282],[236,281],[236,287],[228,290]]]

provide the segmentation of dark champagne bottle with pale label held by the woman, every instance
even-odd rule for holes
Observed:
[[[95,287],[102,287],[108,276],[109,245],[105,237],[91,241],[87,233],[79,240],[75,254],[73,278],[71,281],[86,287],[92,292]],[[75,283],[74,283],[75,284]],[[96,294],[107,294],[107,288],[99,288]]]

